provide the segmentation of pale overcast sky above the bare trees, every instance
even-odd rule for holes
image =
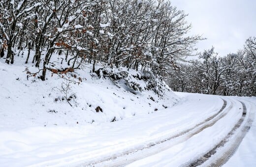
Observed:
[[[198,51],[215,47],[219,56],[242,49],[245,40],[256,36],[256,0],[171,0],[189,14],[193,34],[207,39]]]

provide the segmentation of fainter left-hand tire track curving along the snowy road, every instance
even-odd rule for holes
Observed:
[[[160,140],[160,141],[157,141],[157,142],[154,142],[154,143],[151,142],[151,143],[147,144],[143,148],[132,149],[132,150],[129,150],[127,152],[124,152],[123,154],[115,155],[115,156],[112,156],[112,157],[109,157],[109,158],[105,158],[105,159],[99,160],[97,162],[95,162],[95,161],[94,162],[90,162],[90,163],[84,164],[82,166],[83,167],[87,167],[87,166],[93,166],[93,167],[104,166],[103,163],[110,162],[110,161],[113,161],[113,160],[116,160],[117,162],[112,162],[112,164],[107,164],[105,166],[107,166],[107,167],[125,166],[125,165],[128,165],[128,164],[130,164],[132,162],[135,162],[135,161],[137,161],[139,159],[142,159],[142,158],[145,158],[145,157],[157,154],[157,153],[159,153],[161,151],[164,151],[166,149],[169,149],[170,147],[172,147],[175,144],[178,144],[178,143],[181,143],[183,141],[186,141],[187,139],[190,139],[192,136],[200,133],[204,129],[206,129],[206,128],[210,127],[210,126],[213,126],[218,120],[220,120],[221,118],[223,118],[226,115],[227,112],[223,112],[223,111],[224,111],[224,109],[227,106],[227,101],[224,100],[224,99],[222,99],[222,100],[223,100],[224,104],[223,104],[222,108],[220,109],[220,111],[218,111],[214,115],[210,116],[206,120],[196,124],[191,129],[185,130],[185,131],[183,131],[183,132],[181,132],[181,133],[179,133],[177,135],[171,136],[171,137],[169,137],[167,139],[163,139],[163,140]],[[232,107],[233,107],[233,105],[231,104],[226,109],[226,111],[229,111]],[[187,136],[184,136],[184,135],[187,135]],[[177,143],[173,143],[173,144],[170,144],[168,146],[164,145],[162,147],[159,147],[159,145],[161,143],[164,143],[166,141],[170,141],[172,139],[179,138],[179,137],[182,137],[182,136],[184,136],[184,137],[182,139],[180,139]],[[154,148],[154,149],[152,149],[152,148]],[[141,153],[141,151],[145,151],[145,153]],[[138,152],[140,152],[140,153],[136,155],[136,153],[138,153]],[[128,157],[129,155],[131,155],[131,156]],[[118,161],[118,159],[122,159],[122,158],[124,159],[123,161]]]

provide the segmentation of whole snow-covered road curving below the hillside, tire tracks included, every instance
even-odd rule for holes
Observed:
[[[0,131],[0,166],[256,166],[256,98],[179,95],[117,122]],[[250,156],[232,159],[241,153]]]

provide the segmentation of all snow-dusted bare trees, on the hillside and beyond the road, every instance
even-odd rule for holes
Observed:
[[[217,57],[212,48],[177,63],[201,39],[187,35],[186,16],[167,0],[1,0],[0,58],[9,64],[26,53],[43,81],[48,70],[71,73],[92,63],[95,72],[101,62],[165,77],[175,91],[256,95],[255,38],[236,54]]]

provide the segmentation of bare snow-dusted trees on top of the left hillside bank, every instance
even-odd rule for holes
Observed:
[[[48,70],[86,62],[94,72],[99,61],[163,76],[200,39],[187,36],[186,16],[163,0],[1,0],[1,57],[9,64],[28,51],[43,81]],[[49,65],[56,55],[66,68]]]

